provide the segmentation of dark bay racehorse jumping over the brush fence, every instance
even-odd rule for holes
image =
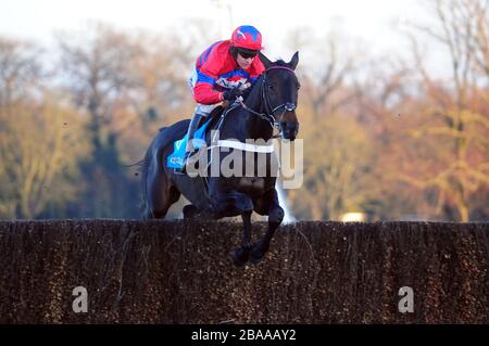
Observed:
[[[261,53],[259,56],[265,72],[255,81],[242,103],[236,102],[221,118],[217,118],[218,121],[209,125],[208,143],[212,141],[211,129],[220,130],[220,140],[223,140],[220,143],[229,144],[230,141],[226,139],[233,139],[238,144],[247,143],[249,140],[263,140],[269,143],[275,126],[278,126],[283,139],[290,141],[296,139],[299,130],[296,107],[300,84],[294,69],[299,63],[299,53],[297,52],[288,63],[281,60],[271,62]],[[184,207],[185,218],[200,216],[220,219],[241,216],[242,246],[231,252],[231,258],[237,266],[247,261],[256,264],[268,251],[274,232],[284,218],[284,209],[278,204],[275,189],[277,175],[273,175],[271,167],[267,167],[265,175],[251,176],[229,177],[218,174],[202,178],[175,174],[173,168],[166,167],[166,161],[174,150],[174,142],[185,136],[189,120],[181,120],[162,129],[146,153],[141,174],[143,217],[164,218],[170,206],[178,201],[180,194],[191,203]],[[239,145],[229,150],[233,145],[223,144],[227,150],[218,151],[217,158],[225,159],[236,151],[242,155],[251,151],[251,157],[256,158],[260,151],[255,149],[259,146]],[[204,154],[209,154],[209,150],[205,150]],[[266,161],[268,166],[272,154],[274,153],[269,151],[264,154],[268,157]],[[254,244],[251,243],[253,210],[268,216],[268,229]]]

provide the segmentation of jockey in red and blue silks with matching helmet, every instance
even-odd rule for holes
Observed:
[[[253,26],[242,25],[233,31],[230,40],[217,41],[199,55],[189,79],[197,106],[187,130],[185,165],[176,168],[177,172],[185,172],[200,120],[223,101],[233,102],[242,95],[243,90],[265,71],[256,57],[262,49],[260,31]]]

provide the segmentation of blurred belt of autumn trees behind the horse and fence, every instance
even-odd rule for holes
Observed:
[[[304,185],[287,191],[298,219],[489,217],[488,1],[429,4],[431,21],[410,33],[414,60],[373,54],[341,23],[290,33],[305,151]],[[187,78],[216,33],[199,21],[163,34],[96,23],[58,36],[53,71],[55,54],[1,38],[0,217],[139,217],[127,165],[189,117]],[[424,42],[448,75],[427,67]]]

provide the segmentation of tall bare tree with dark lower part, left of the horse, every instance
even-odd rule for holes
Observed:
[[[82,164],[86,180],[79,214],[86,217],[137,217],[137,183],[128,178],[118,149],[120,132],[111,124],[123,123],[125,95],[137,84],[131,66],[138,46],[126,34],[96,23],[78,37],[59,36],[61,78],[80,112],[88,115],[93,155]],[[122,189],[121,187],[124,187]]]

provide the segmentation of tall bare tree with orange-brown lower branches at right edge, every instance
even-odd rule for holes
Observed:
[[[486,91],[478,85],[480,69],[476,68],[485,60],[481,56],[487,46],[484,42],[487,25],[479,28],[488,20],[487,1],[431,0],[430,5],[437,25],[416,25],[416,28],[447,50],[451,78],[446,85],[440,85],[431,77],[419,52],[418,40],[412,37],[422,88],[430,102],[418,110],[424,116],[423,125],[412,130],[411,137],[437,148],[430,157],[437,165],[425,165],[425,170],[400,177],[423,190],[437,189],[438,203],[454,205],[457,218],[467,221],[471,194],[489,185],[489,120],[487,108],[485,111],[480,103]],[[478,13],[476,9],[484,11]],[[473,17],[474,14],[477,15]],[[477,43],[478,51],[474,50],[476,37],[478,40],[482,37]]]

